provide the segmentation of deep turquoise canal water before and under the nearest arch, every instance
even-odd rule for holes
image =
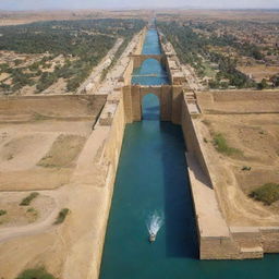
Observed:
[[[125,129],[100,278],[278,278],[278,255],[257,260],[198,260],[181,128],[159,121],[155,95],[144,98],[143,108],[144,120]],[[155,210],[165,215],[165,223],[150,244],[146,220]]]

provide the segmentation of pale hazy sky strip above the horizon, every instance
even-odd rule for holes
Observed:
[[[0,10],[171,7],[279,9],[279,0],[0,0]]]

